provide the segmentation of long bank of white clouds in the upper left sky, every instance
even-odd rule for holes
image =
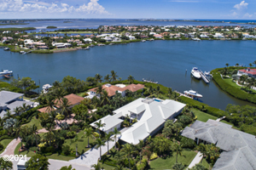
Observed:
[[[99,0],[90,0],[90,3],[75,8],[67,3],[43,3],[38,0],[0,0],[0,12],[22,13],[80,13],[80,14],[109,14]]]

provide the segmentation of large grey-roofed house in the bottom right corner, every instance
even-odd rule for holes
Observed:
[[[209,119],[185,127],[182,136],[195,140],[197,144],[216,144],[223,150],[212,170],[256,169],[256,139],[252,134]]]

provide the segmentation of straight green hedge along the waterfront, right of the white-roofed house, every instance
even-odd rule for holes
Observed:
[[[207,112],[208,114],[210,114],[212,116],[221,117],[221,116],[227,115],[227,113],[225,111],[211,107],[207,104],[203,104],[199,101],[196,101],[195,99],[189,99],[185,96],[181,96],[180,99],[184,104],[192,105],[194,108],[199,109],[199,110],[202,110],[202,107],[204,106],[205,112]]]

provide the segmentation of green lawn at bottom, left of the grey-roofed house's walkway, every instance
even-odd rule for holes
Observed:
[[[183,156],[177,156],[177,161],[183,163],[185,167],[188,167],[190,162],[196,156],[195,151],[187,151],[183,150]],[[174,154],[171,157],[164,158],[157,158],[154,161],[150,161],[150,169],[171,169],[172,166],[176,163],[176,155]]]

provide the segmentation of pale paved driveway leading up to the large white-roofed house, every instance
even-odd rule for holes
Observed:
[[[120,138],[120,135],[118,136]],[[108,144],[109,144],[109,150],[113,148],[114,141],[109,141],[105,143],[105,146],[102,146],[102,155],[107,153],[108,151]],[[78,158],[74,160],[70,160],[69,162],[78,163],[80,165],[86,165],[90,167],[91,165],[94,165],[97,163],[98,159],[100,158],[100,148],[92,148],[84,153],[84,155],[79,156]]]

